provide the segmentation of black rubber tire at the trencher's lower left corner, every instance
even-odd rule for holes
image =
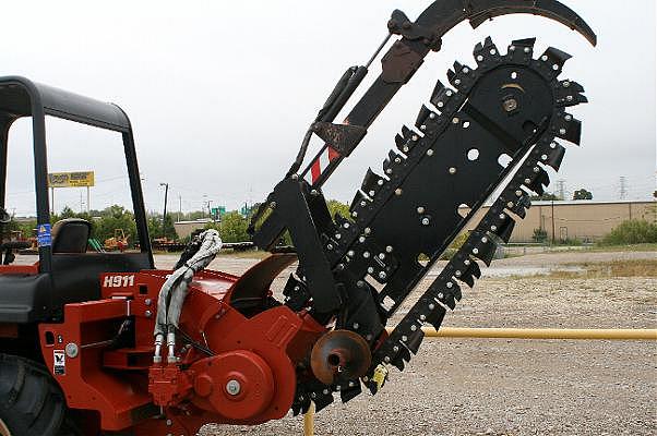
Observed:
[[[45,366],[0,353],[0,419],[12,436],[57,436],[67,403]]]

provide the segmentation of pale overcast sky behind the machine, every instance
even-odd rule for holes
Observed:
[[[586,187],[596,199],[613,199],[625,177],[628,198],[649,198],[656,169],[655,1],[565,3],[598,34],[598,47],[538,16],[500,17],[476,31],[461,24],[370,128],[325,185],[326,196],[349,202],[367,167],[379,170],[394,134],[413,124],[435,80],[445,82],[454,60],[474,65],[474,45],[490,35],[503,50],[512,39],[536,36],[538,53],[551,45],[574,57],[562,77],[583,84],[590,104],[573,109],[584,123],[582,146],[568,148],[552,179],[565,180],[570,192]],[[200,209],[208,199],[236,208],[261,201],[280,180],[337,77],[346,66],[365,63],[385,36],[392,10],[414,19],[429,4],[13,1],[3,4],[0,74],[119,104],[135,131],[147,209],[162,208],[160,182],[170,185],[170,210]],[[378,60],[365,85],[379,72]],[[7,205],[25,215],[35,209],[29,124],[14,130]],[[50,123],[48,135],[51,171],[96,171],[92,207],[127,202],[117,135],[61,122]],[[57,209],[80,209],[85,201],[80,190],[56,195]]]

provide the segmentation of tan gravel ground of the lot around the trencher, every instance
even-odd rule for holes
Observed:
[[[657,252],[583,251],[497,261],[475,289],[464,289],[464,300],[444,325],[656,328],[655,277],[522,277],[577,263],[646,258],[657,258]],[[219,258],[213,266],[241,272],[252,264]],[[274,288],[283,283],[277,279]],[[428,339],[406,371],[391,372],[382,392],[318,413],[315,435],[656,435],[655,398],[655,342]],[[256,427],[208,425],[202,432],[236,434],[301,435],[302,417],[288,415]]]

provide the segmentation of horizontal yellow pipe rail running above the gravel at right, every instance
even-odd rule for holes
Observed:
[[[428,338],[657,340],[654,328],[422,328]],[[391,331],[391,329],[389,329]]]

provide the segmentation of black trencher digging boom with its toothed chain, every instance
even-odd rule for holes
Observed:
[[[580,121],[563,108],[585,102],[583,88],[557,78],[570,56],[548,48],[535,60],[534,41],[515,40],[502,55],[487,38],[474,51],[477,69],[456,62],[447,72],[454,88],[438,83],[433,108],[422,106],[417,130],[404,128],[397,135],[397,150],[383,162],[384,175],[366,174],[351,219],[336,217],[335,227],[321,235],[345,293],[336,325],[360,334],[374,349],[363,378],[372,391],[377,368],[384,363],[404,368],[422,340],[420,327],[440,327],[462,296],[461,283],[471,287],[480,277],[477,259],[490,264],[495,240],[511,237],[512,217],[524,218],[529,193],[543,192],[546,167],[558,170],[564,154],[554,137],[580,141]],[[458,206],[476,211],[505,180],[467,242],[386,337],[385,320],[468,222],[471,214],[461,216]],[[428,264],[418,262],[420,255]],[[333,391],[348,401],[360,393],[361,384],[301,380],[292,410],[304,410],[311,399],[321,409],[333,401]]]

